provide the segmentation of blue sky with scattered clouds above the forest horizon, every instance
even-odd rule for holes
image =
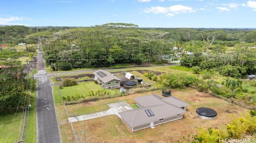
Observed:
[[[256,28],[256,0],[1,0],[0,25]]]

